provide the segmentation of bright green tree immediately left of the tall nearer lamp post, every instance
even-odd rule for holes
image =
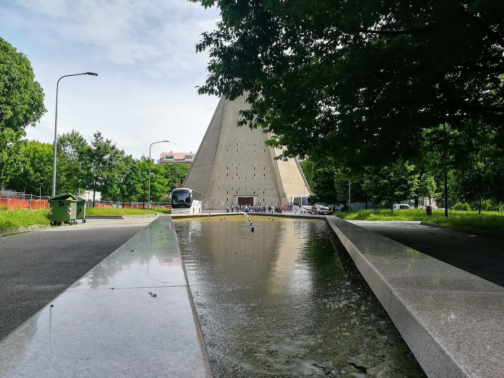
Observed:
[[[22,152],[26,166],[8,182],[7,188],[17,192],[48,195],[52,187],[52,143],[28,141]],[[39,183],[42,184],[40,188]]]

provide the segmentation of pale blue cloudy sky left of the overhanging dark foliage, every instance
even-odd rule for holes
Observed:
[[[75,129],[89,141],[97,130],[127,154],[196,151],[218,98],[199,96],[208,54],[197,54],[203,31],[214,29],[216,8],[187,0],[2,0],[0,36],[31,61],[47,113],[29,139]]]

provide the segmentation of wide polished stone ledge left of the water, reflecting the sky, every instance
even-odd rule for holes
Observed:
[[[0,376],[211,377],[171,217],[0,341]]]

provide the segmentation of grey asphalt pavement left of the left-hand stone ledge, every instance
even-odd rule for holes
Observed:
[[[154,219],[89,219],[0,237],[0,340]]]

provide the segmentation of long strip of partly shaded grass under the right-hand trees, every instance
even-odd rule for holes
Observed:
[[[504,232],[504,213],[496,211],[482,211],[481,215],[477,211],[452,211],[451,214],[448,213],[448,218],[445,218],[444,210],[433,210],[432,216],[428,217],[425,210],[420,209],[394,210],[394,214],[388,209],[359,210],[337,215],[347,220],[422,221],[472,230]]]

